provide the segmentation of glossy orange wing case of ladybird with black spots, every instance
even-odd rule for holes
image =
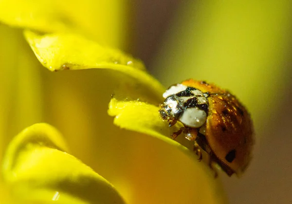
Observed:
[[[208,93],[206,141],[228,175],[240,175],[251,160],[254,130],[250,114],[237,98],[214,84],[193,79],[181,84]]]

